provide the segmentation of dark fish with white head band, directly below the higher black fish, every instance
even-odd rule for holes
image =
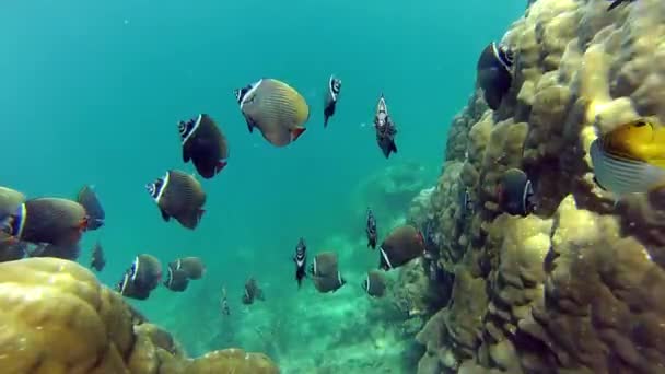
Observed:
[[[145,189],[160,208],[164,221],[173,217],[184,227],[195,230],[205,210],[206,191],[192,175],[170,170],[155,182],[145,185]]]

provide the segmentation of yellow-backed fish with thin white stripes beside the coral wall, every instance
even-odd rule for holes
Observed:
[[[595,180],[618,198],[665,185],[665,127],[646,118],[623,124],[591,143]]]

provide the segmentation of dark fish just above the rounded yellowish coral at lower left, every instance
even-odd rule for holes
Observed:
[[[162,279],[162,265],[152,255],[138,255],[131,267],[125,271],[122,279],[116,285],[121,295],[145,300],[150,296]]]

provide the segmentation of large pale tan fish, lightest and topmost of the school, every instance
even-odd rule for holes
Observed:
[[[266,78],[234,93],[249,132],[258,128],[272,145],[284,147],[305,132],[310,106],[289,84]]]

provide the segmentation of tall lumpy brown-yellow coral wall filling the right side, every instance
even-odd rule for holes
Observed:
[[[418,208],[454,279],[417,337],[418,373],[665,373],[665,191],[615,206],[588,156],[622,121],[665,121],[665,4],[608,4],[529,2],[502,40],[516,59],[501,106],[476,92],[454,119]],[[527,217],[498,204],[511,167],[535,185]]]

